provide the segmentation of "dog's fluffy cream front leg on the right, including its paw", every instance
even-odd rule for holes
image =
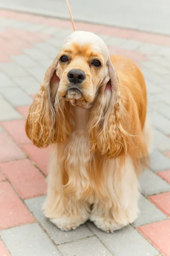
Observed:
[[[132,223],[138,213],[139,185],[133,163],[127,158],[125,167],[120,169],[119,164],[116,166],[107,177],[106,197],[103,200],[99,198],[90,216],[97,227],[108,233]]]

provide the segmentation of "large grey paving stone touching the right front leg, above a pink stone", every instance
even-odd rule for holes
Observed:
[[[150,170],[145,170],[139,177],[141,191],[144,195],[154,195],[170,191],[170,185]]]

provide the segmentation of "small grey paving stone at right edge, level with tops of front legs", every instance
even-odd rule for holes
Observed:
[[[170,169],[170,159],[158,151],[150,154],[150,168],[154,172]]]

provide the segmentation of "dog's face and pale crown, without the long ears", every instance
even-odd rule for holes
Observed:
[[[108,48],[91,32],[77,31],[66,38],[57,56],[58,94],[72,105],[86,107],[100,86],[108,82]]]

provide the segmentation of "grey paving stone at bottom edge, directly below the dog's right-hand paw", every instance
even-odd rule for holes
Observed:
[[[128,225],[122,230],[107,234],[91,222],[88,226],[114,256],[155,256],[158,251],[145,240],[133,227]]]

